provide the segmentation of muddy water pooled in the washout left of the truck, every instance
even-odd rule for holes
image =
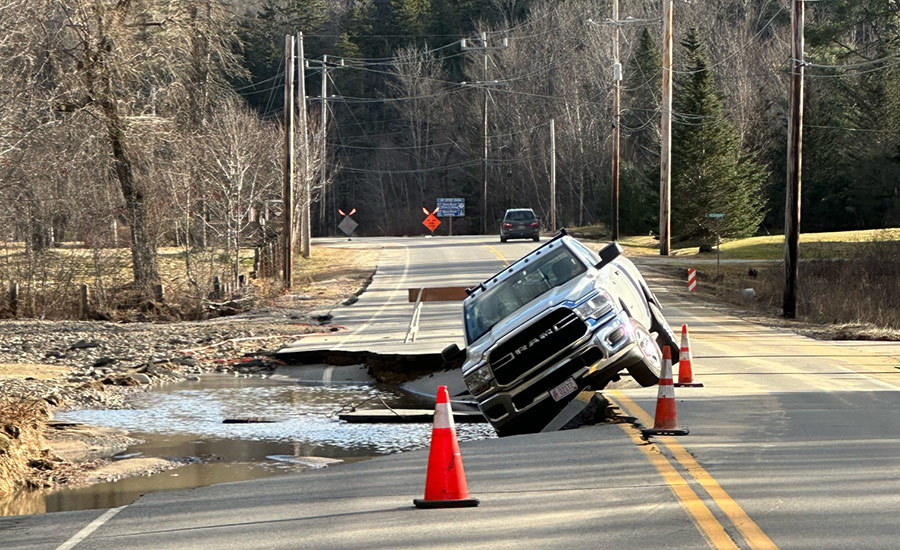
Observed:
[[[115,507],[152,491],[315,467],[307,457],[349,462],[427,446],[430,424],[348,424],[337,418],[342,407],[366,401],[364,406],[378,408],[382,400],[395,408],[433,407],[371,386],[303,386],[288,380],[213,376],[140,394],[128,410],[61,413],[57,415],[61,420],[125,429],[143,441],[120,458],[164,457],[186,465],[81,489],[22,493],[0,503],[0,514]],[[222,422],[248,417],[271,422]],[[457,433],[460,440],[494,437],[486,424],[460,424]]]

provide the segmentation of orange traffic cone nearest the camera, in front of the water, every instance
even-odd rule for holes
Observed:
[[[414,499],[418,508],[466,508],[478,506],[477,498],[469,498],[466,473],[462,467],[456,426],[450,411],[447,386],[439,386],[434,407],[434,428],[428,454],[425,498]]]

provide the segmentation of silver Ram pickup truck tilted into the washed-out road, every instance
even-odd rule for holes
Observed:
[[[675,337],[637,268],[611,243],[594,252],[565,230],[468,289],[463,379],[501,436],[540,431],[580,390],[622,370],[659,382]]]

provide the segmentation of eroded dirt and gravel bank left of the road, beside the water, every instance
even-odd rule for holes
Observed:
[[[378,251],[340,255],[340,262],[304,274],[293,294],[234,317],[0,321],[0,497],[20,487],[77,486],[178,466],[148,458],[113,463],[110,456],[134,443],[127,434],[56,422],[53,412],[124,407],[134,392],[203,373],[265,375],[279,364],[272,352],[286,343],[341,330],[328,324],[327,313],[362,292]]]

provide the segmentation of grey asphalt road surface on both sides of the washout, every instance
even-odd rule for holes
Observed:
[[[443,347],[454,331],[459,338],[459,304],[426,304],[418,343],[404,344],[406,287],[467,284],[533,246],[464,237],[385,244],[372,294],[335,312],[348,331],[328,345]],[[676,389],[688,436],[645,444],[629,425],[602,425],[464,443],[478,508],[412,506],[424,488],[423,450],[156,493],[109,511],[4,518],[2,548],[900,546],[900,346],[819,342],[750,323],[680,281],[645,274],[670,323],[690,326],[704,387]],[[604,394],[652,423],[655,388]]]

